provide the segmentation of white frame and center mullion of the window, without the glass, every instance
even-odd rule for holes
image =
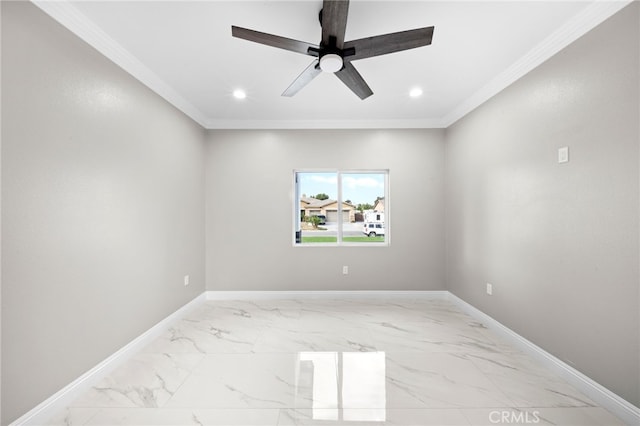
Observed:
[[[297,243],[296,235],[301,230],[300,215],[300,187],[297,182],[299,173],[335,173],[337,177],[337,204],[338,204],[338,231],[337,241],[327,243]],[[353,242],[343,241],[343,216],[342,216],[342,175],[348,174],[382,174],[384,175],[384,224],[385,236],[382,242]],[[390,221],[390,186],[389,169],[294,169],[293,170],[293,231],[292,244],[294,247],[389,247],[391,245],[391,221]],[[364,227],[364,222],[362,222]],[[303,235],[303,233],[301,234]],[[364,233],[362,234],[364,236]]]

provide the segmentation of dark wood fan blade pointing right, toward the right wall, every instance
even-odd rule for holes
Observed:
[[[433,39],[433,29],[434,27],[425,27],[348,41],[344,44],[344,49],[354,48],[355,54],[346,56],[345,60],[355,61],[428,46]]]

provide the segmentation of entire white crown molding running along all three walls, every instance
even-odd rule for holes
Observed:
[[[127,73],[207,129],[416,129],[451,126],[633,0],[595,0],[444,117],[413,120],[228,120],[208,118],[70,2],[66,0],[31,1]]]

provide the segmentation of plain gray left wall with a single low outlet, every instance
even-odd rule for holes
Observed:
[[[6,424],[204,291],[204,131],[26,2],[2,124]]]

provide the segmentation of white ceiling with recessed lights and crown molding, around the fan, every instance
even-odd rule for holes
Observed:
[[[447,127],[628,2],[352,0],[346,40],[435,26],[431,46],[353,62],[360,100],[331,74],[282,97],[313,58],[231,37],[318,44],[321,0],[35,1],[206,128]]]

